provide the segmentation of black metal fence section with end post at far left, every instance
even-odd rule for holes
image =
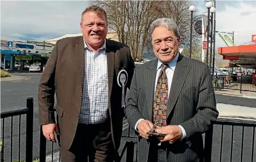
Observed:
[[[34,99],[32,97],[27,98],[27,108],[21,109],[21,110],[14,110],[14,111],[7,111],[1,113],[1,123],[2,123],[2,148],[1,148],[1,162],[6,161],[5,158],[10,159],[10,161],[18,160],[21,161],[20,155],[22,149],[20,146],[21,141],[23,140],[21,138],[21,123],[22,123],[22,116],[26,114],[26,149],[25,149],[25,159],[26,162],[32,162],[33,161],[33,105],[34,105]],[[18,134],[17,130],[13,130],[13,120],[14,117],[18,117],[18,125],[15,123],[15,127],[18,126]],[[10,123],[8,123],[8,120],[10,119]],[[5,129],[10,129],[10,135],[6,135]],[[16,135],[13,135],[13,132],[15,131],[15,134],[18,136],[17,143],[13,143],[13,137]],[[7,140],[8,139],[8,140]],[[10,141],[9,141],[10,139]],[[18,159],[13,159],[13,149],[15,148],[14,145],[17,145],[17,156]],[[9,149],[10,151],[5,154],[5,150]],[[9,156],[9,157],[7,157]]]

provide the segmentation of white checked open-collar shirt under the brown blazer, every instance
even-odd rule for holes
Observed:
[[[84,41],[84,87],[79,123],[103,123],[108,116],[106,41],[96,52]]]

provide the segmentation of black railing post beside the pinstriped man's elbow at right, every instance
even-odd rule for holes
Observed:
[[[211,162],[213,130],[214,128],[211,127],[207,132],[205,132],[205,141],[204,141],[205,162]]]

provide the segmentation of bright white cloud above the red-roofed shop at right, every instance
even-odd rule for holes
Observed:
[[[197,14],[206,12],[205,2],[196,1]],[[251,41],[251,35],[256,34],[256,1],[216,1],[216,31],[232,33],[234,44],[242,45]],[[222,34],[223,36],[224,34]],[[232,36],[226,34],[230,39]],[[216,33],[216,48],[226,46]]]

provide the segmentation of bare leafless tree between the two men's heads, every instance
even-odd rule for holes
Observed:
[[[115,31],[120,42],[130,46],[134,60],[141,60],[148,30],[157,19],[157,1],[95,1],[108,15],[109,28]]]

